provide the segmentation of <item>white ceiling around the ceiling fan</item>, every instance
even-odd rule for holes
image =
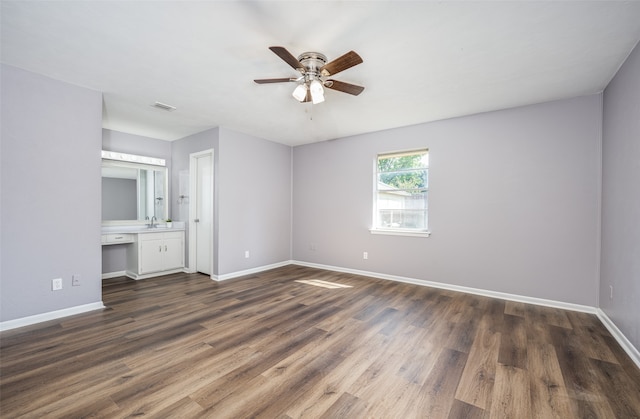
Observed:
[[[222,126],[289,145],[600,92],[640,1],[6,1],[2,62],[104,93],[105,128],[175,140]],[[268,47],[364,63],[318,105]],[[176,106],[155,109],[155,101]]]

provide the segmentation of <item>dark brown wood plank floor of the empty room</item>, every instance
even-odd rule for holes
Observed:
[[[299,266],[103,291],[0,335],[0,416],[640,417],[640,370],[590,314]]]

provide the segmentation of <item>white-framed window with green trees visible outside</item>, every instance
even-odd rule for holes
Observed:
[[[372,233],[428,235],[429,151],[380,154]]]

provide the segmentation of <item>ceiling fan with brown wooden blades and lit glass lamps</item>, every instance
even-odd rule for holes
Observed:
[[[304,52],[296,59],[284,47],[269,47],[278,57],[301,73],[299,77],[279,79],[258,79],[258,84],[266,83],[298,83],[293,91],[293,97],[301,103],[311,102],[314,105],[324,102],[324,88],[337,90],[358,96],[364,87],[339,80],[329,79],[341,71],[362,63],[362,58],[354,51],[327,62],[327,57],[319,52]]]

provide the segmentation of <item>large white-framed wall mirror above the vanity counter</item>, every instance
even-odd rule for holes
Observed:
[[[145,224],[168,217],[167,168],[102,160],[102,223]]]

